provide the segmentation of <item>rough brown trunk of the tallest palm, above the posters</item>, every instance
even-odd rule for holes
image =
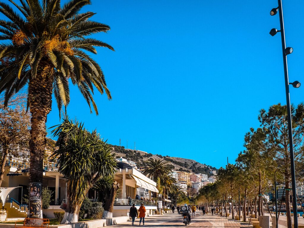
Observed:
[[[52,109],[53,71],[47,61],[41,60],[36,77],[29,80],[29,110],[32,114],[29,140],[30,182],[42,183],[43,154],[47,142],[45,123],[47,114]]]

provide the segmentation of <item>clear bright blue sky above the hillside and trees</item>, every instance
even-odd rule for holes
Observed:
[[[258,111],[286,103],[277,1],[99,1],[85,10],[111,26],[98,48],[113,99],[95,93],[99,115],[71,86],[71,118],[111,144],[195,159],[217,168],[243,150]],[[283,1],[290,81],[303,80],[303,1]],[[304,84],[303,84],[304,85]],[[291,101],[303,101],[291,88]],[[53,101],[47,126],[59,123]]]

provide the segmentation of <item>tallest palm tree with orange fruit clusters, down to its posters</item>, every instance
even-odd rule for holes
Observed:
[[[15,0],[0,2],[0,93],[9,98],[21,88],[28,88],[28,108],[31,112],[30,182],[42,183],[43,154],[46,145],[47,115],[51,111],[52,94],[59,112],[70,101],[69,82],[76,85],[98,114],[92,97],[93,87],[111,99],[100,66],[87,53],[96,54],[95,47],[109,44],[88,38],[107,32],[110,27],[90,20],[93,12],[79,13],[90,0],[70,0],[63,6],[60,0]]]

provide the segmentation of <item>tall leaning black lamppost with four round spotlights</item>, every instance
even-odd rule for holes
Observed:
[[[291,182],[292,182],[292,197],[293,197],[293,218],[294,227],[298,228],[298,217],[297,217],[297,198],[296,198],[296,184],[295,184],[295,160],[293,153],[293,138],[292,138],[292,122],[291,122],[291,107],[290,107],[290,96],[289,96],[289,84],[293,87],[299,88],[300,82],[295,81],[289,83],[288,81],[288,68],[287,68],[287,55],[292,53],[292,48],[287,47],[285,44],[285,32],[284,32],[284,20],[283,20],[283,9],[282,0],[278,0],[278,8],[271,10],[270,15],[273,16],[279,11],[280,27],[281,30],[271,29],[270,35],[274,36],[277,32],[281,32],[282,40],[282,52],[283,52],[283,63],[284,63],[284,76],[285,76],[285,91],[286,91],[286,107],[287,107],[287,118],[288,118],[288,134],[289,134],[289,150],[290,150],[290,166],[291,166]]]

